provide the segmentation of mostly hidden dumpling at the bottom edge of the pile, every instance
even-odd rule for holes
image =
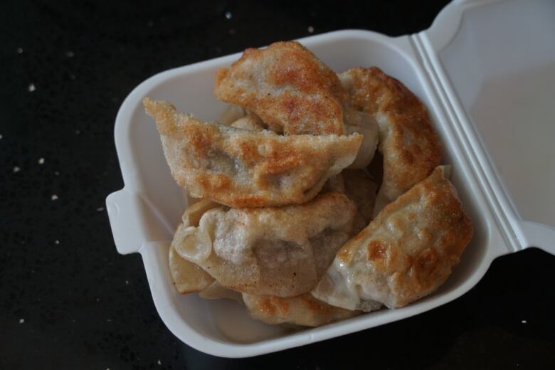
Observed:
[[[318,327],[361,313],[328,305],[312,297],[310,293],[287,298],[243,293],[243,301],[250,316],[267,324]]]

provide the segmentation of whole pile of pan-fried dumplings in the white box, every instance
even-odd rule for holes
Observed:
[[[379,68],[336,74],[279,42],[218,70],[214,94],[229,103],[219,122],[143,101],[171,175],[199,199],[169,249],[176,290],[315,327],[445,282],[472,222],[403,84]]]

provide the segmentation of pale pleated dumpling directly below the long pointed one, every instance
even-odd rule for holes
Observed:
[[[233,290],[291,297],[312,290],[350,238],[356,207],[337,192],[302,205],[213,208],[171,243]]]

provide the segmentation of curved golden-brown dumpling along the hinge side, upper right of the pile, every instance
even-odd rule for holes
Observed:
[[[440,142],[424,105],[398,80],[379,68],[353,68],[339,77],[353,107],[369,113],[379,125],[384,181],[375,216],[440,164]]]

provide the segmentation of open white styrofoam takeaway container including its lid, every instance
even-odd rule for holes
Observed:
[[[240,54],[167,70],[123,102],[115,142],[124,189],[107,197],[117,250],[139,252],[154,305],[181,341],[208,354],[245,357],[338,337],[425,312],[473,287],[492,260],[529,246],[555,254],[555,2],[454,1],[421,33],[390,38],[338,31],[300,40],[336,71],[376,65],[428,107],[453,165],[452,181],[475,225],[460,264],[440,289],[397,310],[287,332],[255,322],[236,302],[179,295],[167,255],[186,196],[171,179],[148,95],[216,120],[218,68]]]

